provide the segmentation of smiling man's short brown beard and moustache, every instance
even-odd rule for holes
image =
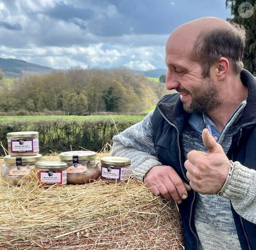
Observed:
[[[192,98],[191,104],[187,105],[183,103],[183,108],[188,113],[208,113],[222,103],[215,82],[211,77],[204,78],[200,86],[192,90],[192,92],[185,89],[177,89],[177,92],[190,93]]]

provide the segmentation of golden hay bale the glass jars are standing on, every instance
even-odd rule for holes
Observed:
[[[98,160],[108,154],[98,154]],[[55,154],[43,160],[59,160]],[[3,160],[0,160],[3,164]],[[1,171],[1,170],[0,170]],[[173,201],[138,180],[41,188],[0,183],[0,250],[183,250]]]

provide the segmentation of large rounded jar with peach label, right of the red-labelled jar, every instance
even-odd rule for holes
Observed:
[[[68,151],[60,153],[60,160],[68,164],[67,184],[84,184],[99,179],[101,171],[93,151]]]

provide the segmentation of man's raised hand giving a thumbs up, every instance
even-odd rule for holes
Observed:
[[[222,189],[229,171],[230,161],[207,129],[202,133],[207,153],[192,150],[184,166],[190,187],[200,194],[217,194]]]

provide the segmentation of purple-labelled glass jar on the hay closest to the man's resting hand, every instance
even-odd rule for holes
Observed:
[[[131,160],[125,157],[102,157],[101,179],[109,183],[127,182],[131,173]]]

